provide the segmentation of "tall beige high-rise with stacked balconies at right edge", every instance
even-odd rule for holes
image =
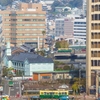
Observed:
[[[91,87],[91,71],[100,70],[100,0],[87,0],[86,88]],[[96,86],[98,81],[96,80]],[[96,89],[98,89],[96,87]],[[98,91],[98,90],[97,90]]]

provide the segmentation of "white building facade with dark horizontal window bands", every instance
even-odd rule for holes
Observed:
[[[86,18],[74,20],[74,37],[86,40]]]

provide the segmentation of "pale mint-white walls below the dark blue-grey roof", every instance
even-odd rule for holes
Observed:
[[[54,63],[29,63],[27,60],[25,62],[8,61],[6,56],[4,57],[4,61],[6,67],[13,67],[15,70],[20,70],[24,72],[25,76],[31,76],[33,72],[37,71],[54,71]]]

